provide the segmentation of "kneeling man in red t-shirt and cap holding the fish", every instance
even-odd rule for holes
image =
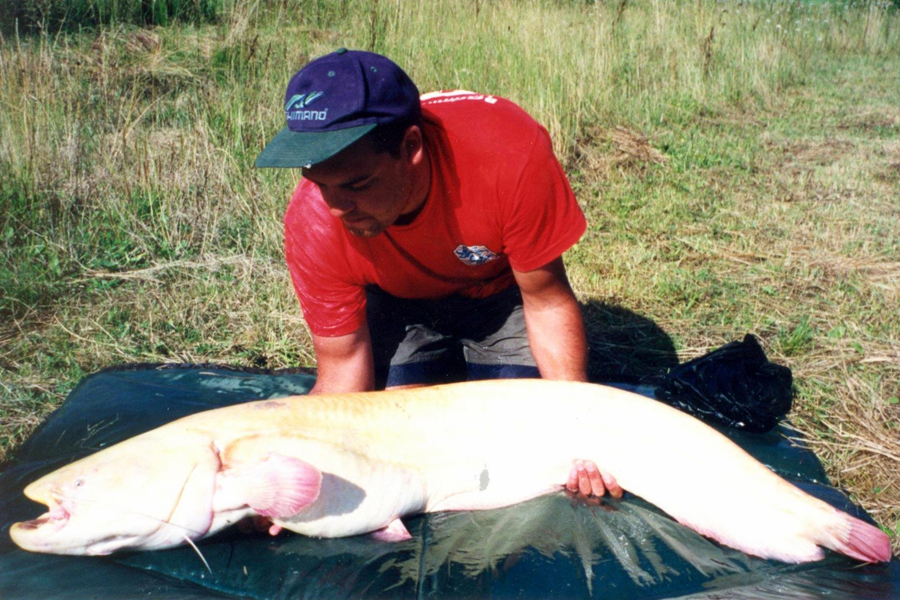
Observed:
[[[311,334],[311,393],[457,379],[586,379],[562,253],[585,220],[547,131],[470,92],[422,96],[403,70],[338,50],[288,84],[258,167],[301,168],[285,254]],[[621,489],[592,463],[568,487]]]

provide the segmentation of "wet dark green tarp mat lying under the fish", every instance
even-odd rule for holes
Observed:
[[[308,374],[182,366],[106,370],[85,378],[0,475],[0,596],[56,598],[900,598],[900,563],[860,565],[829,554],[786,565],[724,548],[640,498],[601,506],[565,495],[506,509],[413,517],[413,538],[276,538],[226,531],[189,547],[62,557],[18,550],[12,522],[42,507],[24,486],[73,459],[178,417],[260,398],[302,394]],[[652,390],[637,390],[652,395]],[[806,491],[861,515],[781,427],[732,439]],[[641,448],[623,448],[640,452]],[[680,493],[690,494],[691,482]],[[861,515],[865,518],[865,515]]]

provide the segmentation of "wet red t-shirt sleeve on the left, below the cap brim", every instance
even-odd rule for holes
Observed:
[[[308,209],[309,184],[294,192],[284,217],[284,253],[303,317],[314,335],[337,337],[366,323],[366,295],[351,280],[343,246]],[[327,215],[326,215],[327,217]]]

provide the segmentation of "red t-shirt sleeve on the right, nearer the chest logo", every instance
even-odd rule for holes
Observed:
[[[504,252],[517,271],[531,271],[562,256],[587,227],[543,127],[537,130],[515,194],[509,200],[503,203]]]

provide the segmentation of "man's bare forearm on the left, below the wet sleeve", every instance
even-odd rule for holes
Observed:
[[[375,389],[369,326],[337,337],[312,336],[316,352],[316,385],[310,394],[366,392]]]

